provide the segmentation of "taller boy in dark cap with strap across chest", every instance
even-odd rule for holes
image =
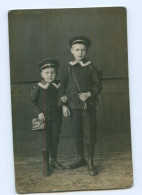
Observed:
[[[75,169],[86,165],[85,142],[88,154],[87,168],[89,174],[94,176],[97,174],[93,162],[97,129],[97,95],[100,93],[102,85],[100,72],[91,61],[85,58],[90,44],[91,41],[85,36],[75,36],[70,40],[69,45],[74,59],[63,70],[59,98],[62,102],[63,115],[71,116],[78,153],[78,158],[69,167]],[[67,103],[62,101],[65,94]]]

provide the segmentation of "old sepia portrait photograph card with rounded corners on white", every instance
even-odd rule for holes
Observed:
[[[16,191],[132,187],[126,9],[8,19]]]

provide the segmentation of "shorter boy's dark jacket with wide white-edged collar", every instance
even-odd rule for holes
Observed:
[[[55,80],[47,84],[44,80],[37,83],[31,92],[31,110],[33,118],[44,113],[46,119],[56,120],[61,116],[61,108],[58,106],[58,93],[60,81]]]

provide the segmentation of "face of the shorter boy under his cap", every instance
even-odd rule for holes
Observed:
[[[42,70],[41,76],[47,83],[52,83],[56,78],[56,70],[55,68],[46,68]]]

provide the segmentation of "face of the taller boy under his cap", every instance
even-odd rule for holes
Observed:
[[[83,60],[87,53],[87,46],[80,43],[74,44],[71,47],[71,53],[76,60]]]

